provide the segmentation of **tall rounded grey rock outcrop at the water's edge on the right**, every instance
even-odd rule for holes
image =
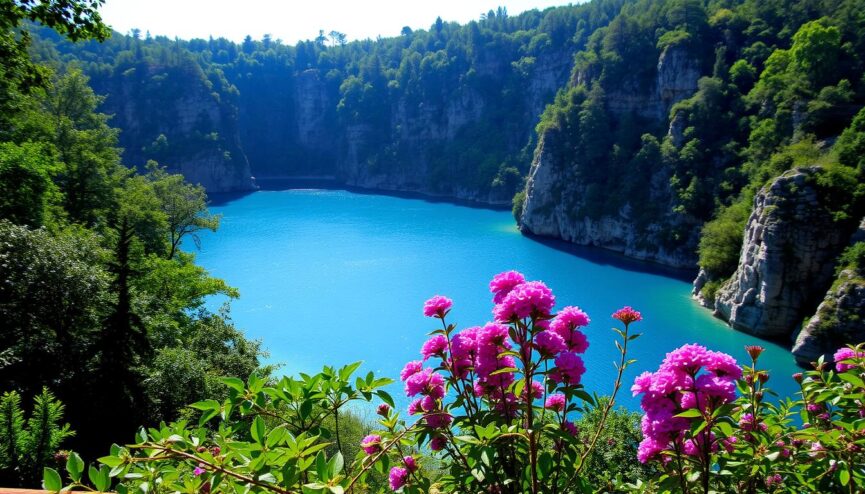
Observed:
[[[835,259],[852,232],[824,207],[821,171],[791,170],[754,199],[739,267],[715,297],[715,314],[734,328],[789,337],[832,284]]]

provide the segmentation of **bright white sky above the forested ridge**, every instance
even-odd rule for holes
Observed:
[[[436,17],[461,24],[498,6],[516,15],[580,0],[106,0],[103,19],[116,31],[182,39],[270,34],[285,44],[313,39],[319,29],[349,40],[397,36],[403,26],[429,29]]]

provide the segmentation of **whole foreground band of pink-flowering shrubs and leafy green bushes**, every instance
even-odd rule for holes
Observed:
[[[861,346],[794,375],[799,398],[778,402],[766,399],[773,393],[769,373],[758,368],[758,346],[746,347],[745,366],[700,345],[671,351],[655,372],[635,379],[642,441],[624,445],[633,464],[643,464],[629,471],[660,475],[614,478],[586,470],[603,467],[599,449],[621,458],[617,441],[628,441],[608,427],[635,420],[613,408],[634,362],[627,349],[639,335],[631,325],[642,316],[630,307],[612,315],[621,324],[614,329],[620,359],[609,398],[599,399],[581,384],[585,312],[554,312],[552,291],[514,271],[497,275],[490,291],[493,321],[483,326],[458,330],[446,297],[424,304],[440,328],[400,373],[411,399],[405,412],[380,389],[391,380],[370,373],[351,381],[359,364],[279,382],[228,378],[227,400],[192,405],[202,414],[197,426],[142,430],[98,468],[85,470],[71,453],[68,487],[88,488],[86,471],[97,490],[119,493],[338,494],[366,492],[373,478],[405,493],[865,492]],[[360,450],[347,462],[340,410],[373,397],[383,401],[377,430],[356,440]],[[60,490],[60,473],[46,469],[43,485]]]

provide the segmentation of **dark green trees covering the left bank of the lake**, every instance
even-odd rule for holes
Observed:
[[[72,38],[102,37],[92,11],[99,3],[17,2],[0,7],[0,18],[35,19]],[[18,39],[0,33],[7,35]],[[97,111],[104,98],[80,70],[52,74],[34,65],[23,51],[28,39],[22,36],[14,53],[0,43],[0,71],[9,76],[0,84],[0,388],[35,399],[35,409],[18,427],[13,398],[3,404],[6,431],[13,431],[7,436],[18,439],[0,455],[20,468],[0,485],[36,486],[41,465],[66,435],[51,425],[62,409],[43,386],[86,438],[79,449],[95,454],[145,420],[177,416],[189,393],[211,389],[217,376],[248,375],[260,346],[226,314],[204,309],[209,295],[237,293],[181,250],[184,239],[218,225],[203,189],[157,165],[147,175],[124,167],[118,131]],[[169,145],[156,141],[157,152]],[[190,368],[200,369],[209,387],[175,388],[177,373],[158,392],[147,386],[166,368],[157,355],[174,348],[190,352]],[[10,459],[22,452],[27,459]]]

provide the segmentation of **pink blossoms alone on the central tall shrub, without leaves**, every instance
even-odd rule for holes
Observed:
[[[437,378],[432,371],[422,370],[423,362],[431,357],[441,359],[443,367],[456,379],[471,379],[465,384],[475,396],[495,402],[495,407],[508,413],[517,400],[543,397],[543,384],[534,382],[531,390],[520,397],[507,392],[514,382],[513,371],[518,368],[518,358],[502,355],[516,348],[523,360],[539,355],[554,361],[549,374],[553,382],[577,385],[586,371],[582,358],[589,347],[586,335],[580,328],[589,324],[589,317],[578,307],[565,307],[555,317],[552,309],[555,296],[540,281],[526,281],[516,271],[497,274],[490,282],[493,293],[493,319],[483,327],[471,327],[457,334],[436,334],[421,348],[422,361],[406,364],[400,377],[406,383],[409,396],[424,395],[410,406],[410,413],[427,416],[438,410],[441,397]],[[424,304],[424,314],[444,319],[450,310],[450,299],[436,295]],[[530,320],[528,322],[527,320]],[[535,354],[534,352],[537,352]],[[503,372],[504,371],[504,372]],[[435,382],[430,379],[436,380]]]

